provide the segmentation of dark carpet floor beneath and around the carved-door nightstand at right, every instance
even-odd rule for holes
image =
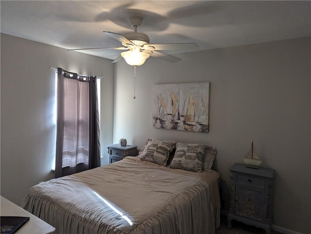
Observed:
[[[265,230],[262,228],[257,228],[255,226],[246,225],[242,222],[236,220],[231,220],[232,229],[227,228],[227,218],[226,216],[221,216],[220,228],[217,230],[216,234],[265,234]],[[271,232],[271,234],[282,234],[276,231]]]

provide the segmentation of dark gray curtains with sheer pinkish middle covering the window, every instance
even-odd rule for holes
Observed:
[[[100,166],[96,77],[57,73],[55,178]]]

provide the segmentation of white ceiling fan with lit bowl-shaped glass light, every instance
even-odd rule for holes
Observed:
[[[149,56],[157,57],[168,62],[178,62],[181,59],[175,56],[164,54],[159,51],[166,50],[178,50],[178,51],[196,51],[199,49],[195,43],[168,43],[168,44],[149,44],[149,37],[145,34],[138,33],[137,28],[142,23],[140,17],[130,17],[129,23],[134,27],[133,33],[118,34],[112,32],[105,32],[104,34],[111,36],[119,40],[123,47],[112,48],[85,48],[85,49],[70,49],[69,51],[76,50],[91,50],[91,49],[114,49],[114,50],[126,50],[117,57],[113,63],[119,62],[121,59],[125,59],[126,63],[132,66],[140,66],[144,64]]]

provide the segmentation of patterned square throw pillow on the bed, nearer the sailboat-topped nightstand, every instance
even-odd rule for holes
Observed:
[[[177,143],[170,168],[202,172],[206,144]]]

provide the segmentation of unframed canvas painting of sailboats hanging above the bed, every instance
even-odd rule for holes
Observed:
[[[209,91],[209,82],[154,85],[153,126],[208,132]]]

